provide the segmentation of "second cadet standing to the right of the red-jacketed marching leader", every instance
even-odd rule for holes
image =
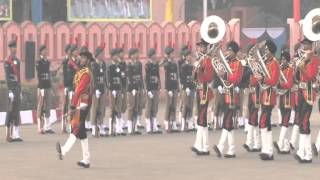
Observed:
[[[121,71],[119,66],[119,57],[117,49],[112,49],[110,52],[111,63],[108,66],[108,89],[110,99],[109,117],[109,135],[119,133],[119,122],[121,118]],[[115,128],[114,128],[115,126]]]

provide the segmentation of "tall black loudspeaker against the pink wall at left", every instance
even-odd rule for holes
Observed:
[[[36,58],[36,43],[34,41],[26,41],[25,43],[25,76],[26,79],[35,77],[35,58]]]

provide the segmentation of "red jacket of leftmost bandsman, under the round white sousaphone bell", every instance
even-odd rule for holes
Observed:
[[[200,98],[203,99],[203,97],[206,95],[207,91],[207,99],[210,101],[213,98],[213,93],[210,87],[208,87],[208,83],[210,83],[214,76],[213,66],[211,63],[210,58],[206,58],[202,60],[200,67],[198,69],[197,73],[197,81],[202,84],[202,88],[198,89],[198,93],[200,95]],[[207,88],[207,89],[204,89]]]

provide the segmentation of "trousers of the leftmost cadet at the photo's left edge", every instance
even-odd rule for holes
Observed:
[[[21,104],[21,87],[16,86],[12,89],[14,98],[12,101],[9,99],[9,108],[6,116],[6,127],[11,125],[19,126],[20,125],[20,104]]]

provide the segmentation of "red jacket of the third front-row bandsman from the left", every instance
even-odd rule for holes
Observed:
[[[263,83],[270,86],[269,88],[262,91],[262,104],[263,105],[276,105],[276,91],[273,87],[277,86],[279,82],[279,74],[280,74],[280,67],[275,58],[268,60],[266,63],[266,67],[269,71],[270,78],[264,77]]]

